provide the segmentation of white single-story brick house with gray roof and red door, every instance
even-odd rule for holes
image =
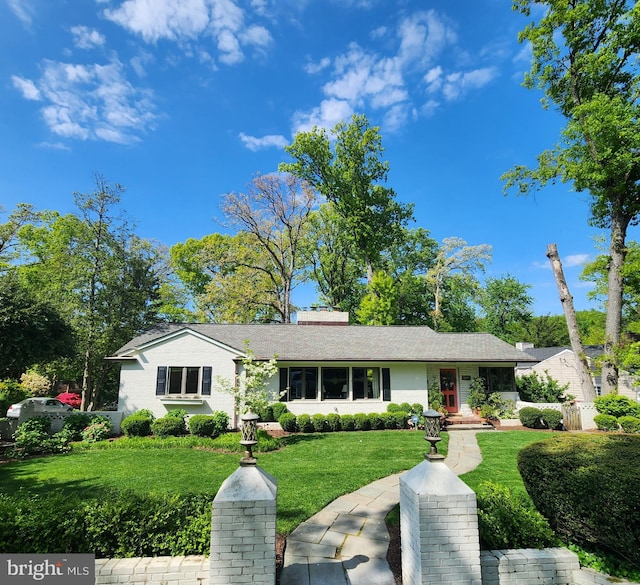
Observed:
[[[299,312],[297,324],[165,323],[110,358],[121,362],[118,410],[232,416],[232,396],[216,380],[234,379],[247,344],[256,359],[277,357],[270,390],[282,391],[294,414],[384,412],[389,402],[426,406],[429,391],[442,392],[449,412],[469,413],[473,378],[515,398],[515,365],[536,361],[488,333],[349,325],[348,314],[335,311]]]

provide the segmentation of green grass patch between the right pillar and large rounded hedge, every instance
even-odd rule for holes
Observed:
[[[460,476],[460,479],[474,491],[483,481],[491,481],[507,486],[514,492],[526,494],[518,472],[518,451],[530,443],[557,435],[558,433],[532,431],[476,433],[482,463],[473,471]]]

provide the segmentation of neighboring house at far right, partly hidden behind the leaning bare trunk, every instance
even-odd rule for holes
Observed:
[[[538,363],[519,363],[516,375],[522,376],[535,372],[545,377],[545,372],[561,386],[569,384],[566,394],[575,396],[578,402],[584,402],[584,395],[578,376],[577,358],[571,347],[534,347],[532,343],[516,343],[516,347],[537,359]],[[601,345],[586,345],[585,355],[591,369],[593,385],[596,393],[600,394],[600,375],[597,368],[597,358],[603,354]],[[638,399],[638,388],[633,385],[633,379],[628,372],[621,371],[618,380],[618,392],[632,400]]]

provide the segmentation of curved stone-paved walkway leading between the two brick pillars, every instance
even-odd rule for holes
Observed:
[[[445,464],[456,475],[482,460],[475,430],[449,433]],[[287,538],[280,585],[395,585],[385,517],[400,501],[400,475],[334,500]]]

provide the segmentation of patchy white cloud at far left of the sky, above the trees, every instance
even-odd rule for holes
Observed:
[[[126,80],[117,59],[106,65],[44,61],[37,82],[14,77],[14,85],[26,99],[43,102],[45,124],[65,138],[135,142],[157,117],[150,93]]]

